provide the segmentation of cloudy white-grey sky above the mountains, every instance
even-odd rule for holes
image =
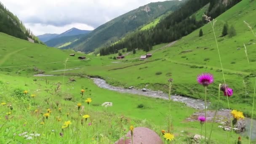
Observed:
[[[0,0],[35,35],[93,30],[147,3],[165,0]]]

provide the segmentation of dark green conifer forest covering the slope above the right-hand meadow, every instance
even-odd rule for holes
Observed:
[[[195,29],[202,27],[206,21],[202,17],[197,21],[194,13],[210,3],[205,13],[212,18],[219,16],[241,0],[189,0],[182,7],[162,19],[154,28],[145,31],[136,31],[125,37],[119,43],[100,50],[100,55],[116,53],[117,50],[135,48],[150,51],[152,45],[168,43],[188,35]]]

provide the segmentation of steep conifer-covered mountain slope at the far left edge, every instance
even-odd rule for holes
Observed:
[[[33,35],[30,29],[24,26],[24,23],[19,20],[17,16],[11,13],[4,5],[0,2],[0,32],[18,37],[23,40],[29,40],[33,43],[42,43],[38,38]],[[42,43],[43,44],[43,43]]]

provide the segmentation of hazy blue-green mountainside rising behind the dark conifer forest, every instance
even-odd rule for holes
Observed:
[[[154,21],[164,13],[168,11],[176,11],[179,8],[179,5],[184,1],[185,0],[171,0],[149,3],[141,6],[97,27],[88,35],[81,37],[79,40],[63,48],[91,52],[94,51],[95,48],[111,45],[128,32],[132,32],[144,24]]]

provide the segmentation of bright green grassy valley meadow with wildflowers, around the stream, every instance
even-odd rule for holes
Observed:
[[[215,24],[225,80],[234,90],[234,95],[229,98],[230,108],[243,111],[248,117],[255,80],[256,51],[253,48],[256,47],[256,37],[243,20],[255,29],[256,20],[252,19],[256,13],[255,5],[255,1],[243,0],[219,16]],[[236,36],[220,37],[226,22],[235,27]],[[171,132],[175,135],[171,142],[188,144],[190,137],[200,134],[200,123],[186,120],[197,112],[196,109],[174,101],[170,102],[169,109],[169,102],[163,99],[99,88],[85,75],[99,76],[115,86],[145,88],[147,85],[152,90],[165,92],[171,77],[174,80],[172,94],[203,99],[204,88],[197,84],[196,77],[209,72],[215,82],[208,87],[208,101],[210,108],[215,109],[218,85],[224,80],[211,25],[206,24],[202,29],[203,37],[198,37],[198,29],[170,47],[164,48],[168,44],[155,45],[149,52],[153,56],[144,61],[139,60],[145,54],[141,50],[136,54],[127,53],[123,60],[110,59],[117,56],[112,54],[86,55],[86,60],[80,61],[77,56],[85,56],[84,53],[49,48],[0,33],[0,103],[6,103],[0,105],[0,143],[112,144],[129,131],[130,125],[151,128],[161,136],[161,130],[168,129],[168,117],[171,117]],[[250,64],[243,44],[247,47]],[[187,50],[191,51],[184,52]],[[76,56],[69,56],[70,53]],[[53,72],[61,69],[73,70]],[[41,71],[58,76],[33,76]],[[75,81],[71,82],[69,78]],[[83,96],[81,89],[85,90]],[[91,103],[85,102],[87,98],[92,99]],[[102,107],[106,101],[112,102],[113,106]],[[82,105],[80,108],[78,103]],[[139,107],[141,104],[142,108]],[[227,108],[226,97],[221,96],[219,108]],[[45,113],[50,116],[46,118]],[[90,117],[85,120],[84,115]],[[63,128],[69,120],[72,124]],[[207,126],[209,135],[210,123]],[[233,144],[238,136],[214,124],[212,143],[227,141]],[[242,140],[248,143],[245,137]]]

